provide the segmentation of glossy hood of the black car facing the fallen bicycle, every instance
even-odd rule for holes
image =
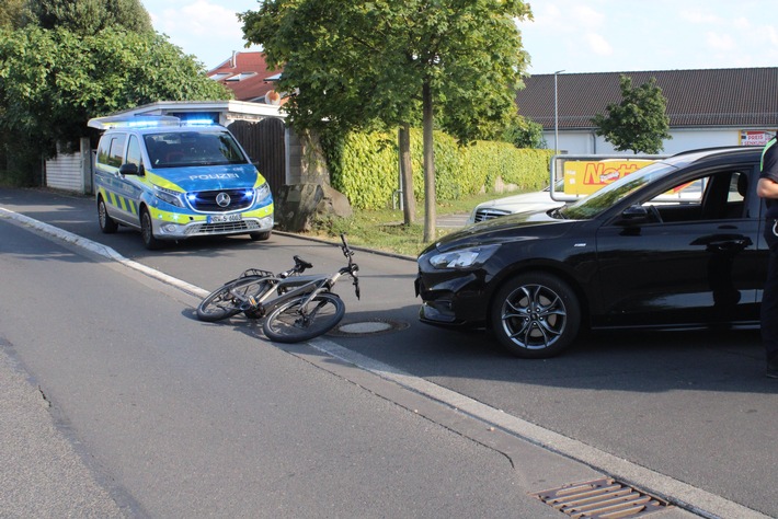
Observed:
[[[446,234],[422,254],[436,249],[446,252],[466,246],[522,241],[564,234],[575,220],[554,218],[553,210],[518,212],[487,220]]]

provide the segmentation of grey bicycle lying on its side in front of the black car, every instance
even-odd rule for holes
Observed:
[[[325,334],[345,314],[345,303],[332,292],[342,276],[352,277],[359,298],[359,267],[345,234],[341,234],[341,242],[347,263],[336,273],[302,275],[313,265],[299,256],[293,256],[295,265],[279,274],[250,268],[206,296],[197,307],[197,319],[216,322],[240,312],[249,319],[264,318],[265,336],[278,343],[298,343]]]

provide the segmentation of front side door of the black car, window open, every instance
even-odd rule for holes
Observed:
[[[649,217],[616,219],[598,229],[599,324],[757,321],[766,258],[757,249],[756,177],[755,164],[708,171],[640,200]],[[663,201],[695,185],[699,199]]]

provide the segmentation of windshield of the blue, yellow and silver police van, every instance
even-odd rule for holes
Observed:
[[[170,131],[145,136],[151,168],[244,164],[243,152],[227,131]]]

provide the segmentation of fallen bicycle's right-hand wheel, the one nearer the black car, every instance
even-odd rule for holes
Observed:
[[[302,305],[306,298],[291,299],[267,315],[262,325],[267,338],[277,343],[308,341],[335,327],[346,313],[346,305],[334,293],[322,292]]]

